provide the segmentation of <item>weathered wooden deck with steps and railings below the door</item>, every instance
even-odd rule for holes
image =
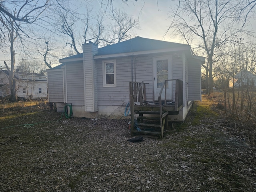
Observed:
[[[175,81],[175,100],[166,100],[166,83]],[[162,100],[162,92],[165,98]],[[146,84],[130,82],[131,135],[146,135],[163,138],[164,130],[168,129],[168,115],[177,115],[183,107],[182,80],[165,80],[158,96],[158,101],[147,102]]]

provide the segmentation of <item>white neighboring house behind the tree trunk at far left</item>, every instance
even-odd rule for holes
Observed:
[[[0,70],[0,96],[10,94],[8,71]],[[47,78],[44,74],[14,72],[16,95],[24,98],[47,98]]]

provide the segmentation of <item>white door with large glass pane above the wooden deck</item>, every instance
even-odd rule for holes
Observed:
[[[153,58],[154,65],[154,100],[158,100],[158,96],[160,94],[160,90],[162,86],[164,86],[164,81],[168,79],[172,79],[172,63],[171,56],[162,56]],[[164,100],[164,90],[162,92],[162,100]],[[172,100],[172,81],[167,82],[166,86],[166,99]]]

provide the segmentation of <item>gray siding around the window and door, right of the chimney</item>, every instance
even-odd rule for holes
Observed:
[[[161,55],[170,55],[161,54]],[[123,105],[129,101],[129,82],[136,81],[146,84],[146,100],[154,100],[153,88],[153,57],[159,54],[138,57],[116,58],[116,87],[103,87],[102,62],[97,60],[98,69],[98,104]],[[110,60],[110,59],[107,59]],[[135,63],[135,66],[134,66]],[[132,67],[133,64],[133,67]],[[132,74],[133,68],[133,74]],[[134,70],[135,69],[135,70]],[[133,76],[133,78],[132,78]],[[172,79],[183,80],[182,57],[172,58]],[[174,82],[175,85],[175,82]],[[173,90],[175,98],[175,90]]]

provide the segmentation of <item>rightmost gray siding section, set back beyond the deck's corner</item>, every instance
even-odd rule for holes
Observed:
[[[188,100],[201,100],[201,63],[200,60],[188,60]]]

